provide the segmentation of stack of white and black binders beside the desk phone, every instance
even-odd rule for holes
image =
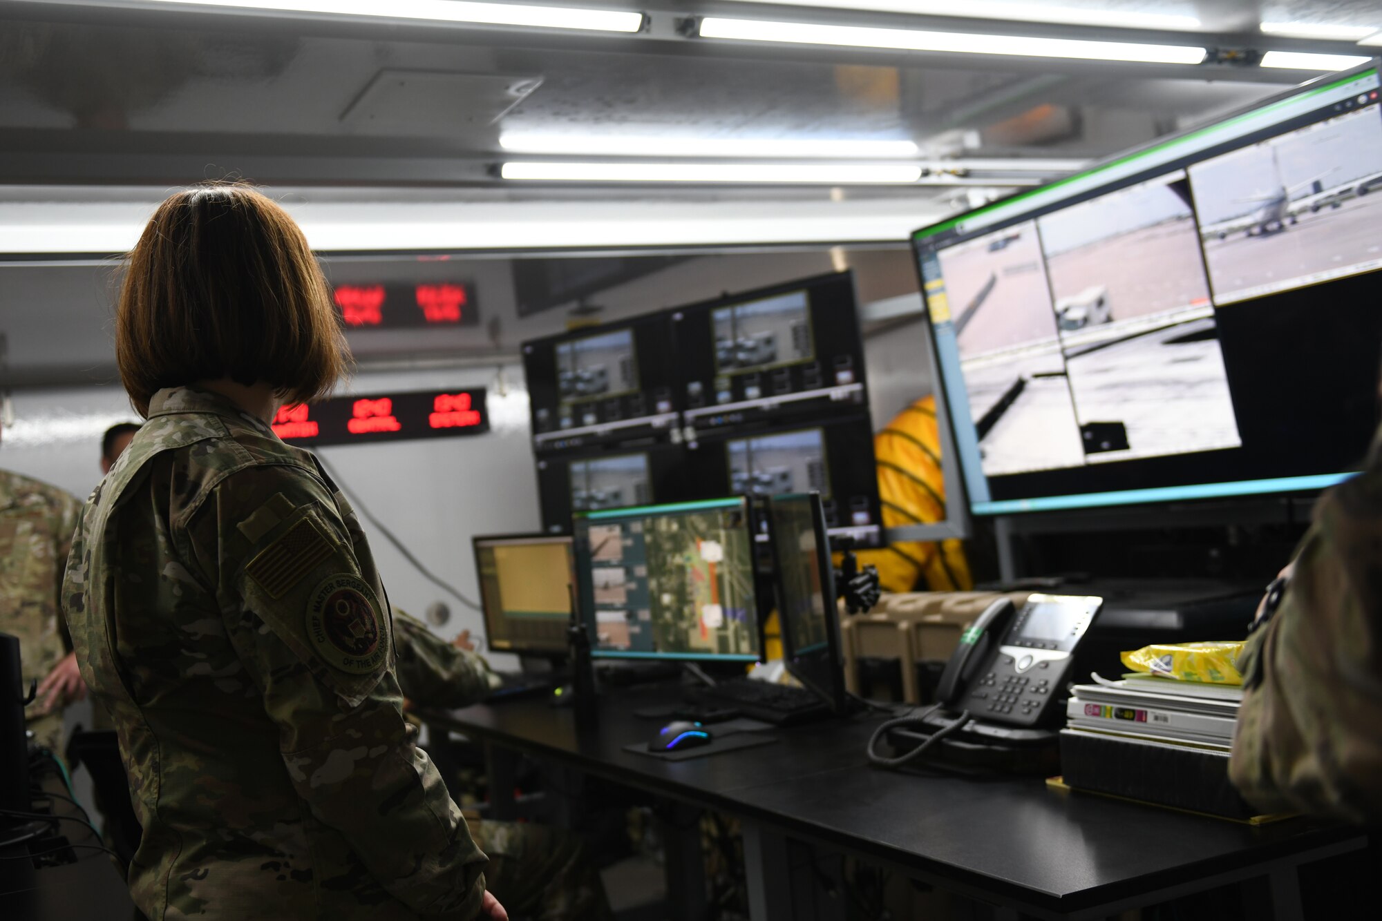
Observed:
[[[1252,817],[1229,783],[1242,688],[1153,675],[1077,685],[1060,733],[1064,783],[1233,819]]]

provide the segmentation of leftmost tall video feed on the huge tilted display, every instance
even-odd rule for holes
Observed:
[[[1036,224],[937,253],[988,476],[1085,463]]]

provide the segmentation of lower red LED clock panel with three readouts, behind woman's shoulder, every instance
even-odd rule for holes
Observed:
[[[365,445],[488,431],[482,387],[336,396],[316,406],[285,406],[274,417],[274,432],[293,445]]]

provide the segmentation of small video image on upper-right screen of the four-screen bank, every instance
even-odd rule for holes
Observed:
[[[712,323],[720,374],[792,365],[815,355],[806,291],[721,307]]]

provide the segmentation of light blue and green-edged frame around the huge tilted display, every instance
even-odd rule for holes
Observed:
[[[1034,196],[1034,195],[1036,195],[1039,192],[1045,192],[1045,191],[1052,189],[1054,186],[1060,186],[1060,185],[1068,184],[1071,181],[1079,180],[1083,175],[1088,175],[1088,174],[1092,174],[1092,173],[1097,173],[1099,170],[1107,168],[1108,166],[1117,164],[1117,163],[1119,163],[1122,160],[1128,160],[1128,159],[1136,157],[1136,156],[1139,156],[1142,153],[1146,153],[1148,151],[1154,151],[1154,149],[1162,148],[1162,146],[1165,146],[1168,144],[1177,142],[1177,141],[1180,141],[1183,138],[1187,138],[1187,137],[1194,135],[1194,134],[1197,134],[1200,131],[1211,128],[1215,124],[1223,124],[1223,123],[1230,122],[1233,119],[1251,115],[1253,112],[1258,112],[1259,109],[1263,109],[1265,106],[1276,105],[1278,102],[1284,102],[1284,101],[1296,98],[1296,97],[1299,97],[1299,95],[1302,95],[1305,93],[1312,93],[1312,91],[1316,91],[1316,90],[1328,88],[1332,84],[1346,83],[1349,80],[1354,80],[1357,77],[1365,76],[1368,72],[1375,72],[1378,75],[1379,80],[1382,80],[1382,55],[1374,57],[1371,61],[1368,61],[1365,64],[1356,65],[1356,66],[1349,68],[1346,70],[1336,70],[1336,72],[1332,72],[1332,73],[1325,73],[1325,75],[1321,75],[1318,77],[1314,77],[1313,80],[1307,80],[1305,83],[1295,84],[1295,86],[1289,87],[1288,90],[1277,93],[1277,94],[1274,94],[1271,97],[1267,97],[1265,99],[1259,99],[1259,101],[1252,102],[1252,104],[1245,105],[1245,106],[1240,106],[1240,108],[1237,108],[1237,109],[1234,109],[1231,112],[1227,112],[1227,113],[1224,113],[1222,116],[1218,116],[1218,117],[1213,119],[1213,122],[1211,122],[1208,124],[1197,124],[1197,126],[1193,126],[1190,128],[1186,128],[1186,130],[1182,130],[1182,131],[1176,131],[1173,134],[1161,135],[1158,138],[1147,141],[1146,144],[1140,144],[1137,146],[1121,151],[1121,152],[1118,152],[1118,153],[1115,153],[1113,156],[1103,157],[1103,159],[1100,159],[1100,160],[1097,160],[1095,163],[1090,163],[1085,168],[1079,170],[1079,173],[1075,173],[1075,174],[1067,177],[1064,180],[1059,180],[1056,182],[1048,182],[1048,184],[1045,184],[1042,186],[1038,186],[1035,189],[1019,189],[1019,191],[1013,192],[1012,195],[1006,195],[1006,196],[1003,196],[1001,199],[995,199],[994,202],[987,202],[987,203],[980,204],[977,207],[967,209],[965,211],[960,211],[958,214],[952,214],[952,215],[949,215],[947,218],[943,218],[943,220],[936,221],[933,224],[927,224],[925,226],[920,226],[916,231],[912,231],[912,233],[908,235],[908,242],[909,242],[909,246],[911,246],[911,250],[912,250],[912,265],[914,265],[914,268],[916,271],[916,276],[918,276],[918,282],[919,282],[919,287],[920,287],[922,313],[923,313],[923,323],[925,323],[925,331],[926,331],[926,336],[925,336],[925,338],[926,338],[926,348],[927,348],[927,353],[929,353],[930,360],[931,360],[931,367],[936,371],[936,374],[934,374],[934,388],[936,388],[936,395],[937,395],[937,407],[940,407],[941,405],[944,405],[945,413],[947,413],[947,418],[949,418],[949,416],[952,414],[952,402],[951,402],[951,396],[949,396],[949,388],[947,387],[947,382],[945,382],[945,371],[944,371],[944,369],[941,366],[941,356],[940,356],[940,351],[938,351],[938,347],[937,347],[937,342],[936,342],[936,324],[934,324],[934,320],[931,318],[930,301],[927,300],[927,295],[926,295],[926,279],[922,276],[922,254],[923,254],[923,249],[922,249],[920,240],[922,240],[923,236],[926,236],[926,235],[936,235],[936,233],[941,232],[941,229],[938,229],[938,228],[943,228],[943,226],[948,228],[951,225],[960,224],[967,217],[972,217],[972,215],[976,215],[976,214],[980,214],[980,213],[984,213],[984,211],[990,211],[991,209],[996,209],[996,207],[1001,207],[1001,206],[1010,206],[1010,204],[1013,204],[1014,202],[1017,202],[1020,199]],[[1017,217],[1021,218],[1021,214],[1019,214]],[[999,224],[1006,224],[1006,221],[1002,221]],[[926,251],[929,253],[929,251],[933,251],[933,250],[931,250],[931,247],[927,247]],[[962,407],[962,411],[967,413],[969,409],[967,407]],[[1233,498],[1252,497],[1252,496],[1291,494],[1291,493],[1318,493],[1320,490],[1327,489],[1329,486],[1334,486],[1334,485],[1336,485],[1339,482],[1343,482],[1345,479],[1347,479],[1350,476],[1350,474],[1318,474],[1318,475],[1282,476],[1282,478],[1271,478],[1271,479],[1222,481],[1222,482],[1213,482],[1213,483],[1189,483],[1189,485],[1180,485],[1180,486],[1162,486],[1162,487],[1147,487],[1147,489],[1103,490],[1103,492],[1095,492],[1095,493],[1066,493],[1066,494],[1059,494],[1059,496],[1038,496],[1038,497],[1028,497],[1028,498],[991,500],[991,501],[987,501],[987,503],[974,503],[974,500],[969,494],[969,489],[967,489],[969,483],[967,483],[967,475],[966,475],[966,471],[965,471],[965,461],[960,460],[959,456],[958,456],[958,439],[955,438],[954,429],[949,425],[947,425],[945,428],[948,429],[945,432],[945,436],[947,436],[945,446],[951,447],[955,452],[954,453],[954,457],[955,457],[954,468],[955,468],[955,472],[956,472],[955,481],[951,481],[949,476],[948,476],[949,467],[943,467],[943,469],[947,474],[947,485],[948,485],[947,494],[949,494],[949,492],[948,492],[949,490],[949,483],[951,482],[959,482],[960,489],[963,490],[963,494],[965,494],[965,503],[963,503],[965,511],[966,511],[966,514],[969,516],[973,516],[973,518],[995,519],[995,518],[1002,518],[1002,516],[1006,516],[1006,515],[1024,515],[1025,516],[1025,515],[1041,514],[1041,512],[1067,512],[1067,514],[1072,512],[1072,514],[1079,514],[1081,511],[1085,511],[1085,510],[1097,510],[1097,508],[1110,508],[1110,507],[1139,507],[1139,505],[1147,507],[1147,505],[1165,504],[1165,503],[1172,503],[1172,501],[1183,503],[1183,501],[1200,501],[1200,500],[1215,500],[1215,498],[1218,498],[1218,500],[1233,500]],[[980,471],[980,475],[981,476],[984,475],[983,471]],[[948,512],[948,510],[947,510],[947,512]]]

